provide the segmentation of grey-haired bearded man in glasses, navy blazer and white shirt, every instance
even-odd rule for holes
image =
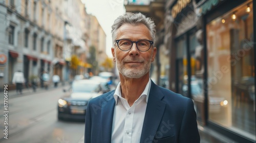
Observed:
[[[193,101],[150,79],[154,22],[125,13],[115,20],[112,38],[120,83],[88,103],[85,142],[200,142]]]

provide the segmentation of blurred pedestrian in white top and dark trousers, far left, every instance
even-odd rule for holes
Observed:
[[[14,73],[12,83],[16,85],[16,92],[22,94],[22,86],[25,83],[25,78],[22,71],[18,70]]]

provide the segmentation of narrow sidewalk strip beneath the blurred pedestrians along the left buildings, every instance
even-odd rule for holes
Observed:
[[[63,85],[61,83],[59,83],[58,87],[56,87],[56,88],[63,88],[63,89],[65,89],[67,86],[69,86],[68,82],[63,84]],[[23,88],[22,94],[17,93],[16,90],[7,90],[7,91],[8,91],[8,97],[10,99],[10,98],[15,98],[15,97],[28,96],[28,95],[31,95],[31,94],[34,94],[34,93],[38,93],[38,92],[40,93],[40,92],[44,92],[44,91],[51,91],[51,90],[56,89],[56,88],[54,87],[53,84],[50,84],[48,89],[45,89],[45,88],[42,88],[42,87],[38,86],[36,88],[35,92],[33,91],[32,87],[30,87],[30,88]]]

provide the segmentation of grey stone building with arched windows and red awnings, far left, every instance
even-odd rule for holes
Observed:
[[[17,70],[23,71],[26,82],[33,75],[40,78],[42,71],[51,73],[52,47],[61,33],[51,32],[55,28],[51,24],[55,13],[50,3],[1,1],[0,53],[7,57],[6,63],[1,64],[2,83],[11,83]]]

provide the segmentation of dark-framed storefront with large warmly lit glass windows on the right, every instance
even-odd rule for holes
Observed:
[[[176,13],[170,58],[175,86],[170,87],[193,99],[202,128],[233,141],[255,142],[256,1],[186,2],[190,3],[171,7]],[[177,4],[181,10],[173,10]],[[196,24],[189,21],[193,13]],[[189,25],[181,24],[184,17]]]

